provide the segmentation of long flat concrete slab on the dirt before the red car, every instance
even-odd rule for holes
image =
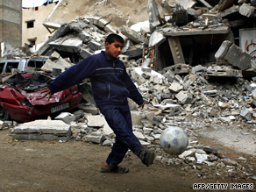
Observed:
[[[61,120],[35,120],[14,127],[13,138],[68,140],[71,137],[70,127]]]

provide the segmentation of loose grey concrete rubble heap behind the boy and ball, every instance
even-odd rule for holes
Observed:
[[[132,63],[137,65],[135,61],[129,61],[129,66]],[[151,68],[127,68],[127,71],[146,100],[143,111],[129,100],[133,132],[142,145],[157,153],[157,162],[166,166],[182,165],[181,171],[204,179],[255,180],[251,162],[243,157],[228,160],[217,149],[202,146],[197,138],[207,127],[217,130],[240,126],[243,132],[255,131],[253,103],[256,98],[253,95],[256,84],[242,78],[235,83],[210,83],[203,75],[174,75],[167,69],[162,75]],[[69,124],[71,138],[77,141],[112,146],[115,135],[95,105],[81,103],[79,108],[81,110],[74,114],[62,113],[55,120]],[[160,148],[161,132],[172,125],[181,127],[188,134],[188,148],[179,156],[171,156]],[[14,133],[18,132],[16,129],[20,130],[18,127],[14,127]],[[126,158],[130,155],[131,152],[127,153]]]

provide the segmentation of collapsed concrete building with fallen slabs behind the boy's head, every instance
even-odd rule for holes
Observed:
[[[135,24],[136,16],[126,24],[123,15],[119,16],[122,21],[118,24],[113,19],[117,18],[116,15],[106,17],[101,10],[109,10],[115,4],[108,1],[93,4],[89,13],[101,11],[96,16],[81,14],[75,20],[68,18],[68,23],[60,24],[57,19],[60,10],[75,8],[75,4],[67,2],[64,8],[64,3],[60,1],[43,23],[48,31],[53,30],[54,33],[37,50],[39,55],[49,56],[57,51],[63,58],[77,63],[103,49],[104,37],[109,32],[116,32],[126,40],[123,54],[129,60],[140,62],[140,66],[148,66],[155,71],[172,68],[176,74],[188,74],[189,68],[201,65],[200,73],[206,76],[224,76],[223,70],[228,71],[226,76],[229,77],[239,77],[239,70],[245,78],[255,75],[252,48],[255,7],[251,1],[148,1],[141,10],[144,16],[139,18],[139,27]],[[118,4],[117,8],[121,5]],[[141,21],[144,19],[148,22]],[[231,47],[240,47],[241,54],[250,54],[252,66],[248,63],[249,56],[243,60],[247,63],[242,68],[238,67],[242,65],[241,60],[237,60],[237,64],[228,62],[226,58],[220,59],[216,53],[223,48],[224,41],[231,42]],[[234,48],[231,50],[231,54],[238,53]],[[213,69],[215,65],[222,67]]]

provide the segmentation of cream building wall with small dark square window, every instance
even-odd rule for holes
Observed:
[[[42,25],[46,17],[53,11],[56,4],[47,4],[39,6],[38,11],[35,8],[25,9],[22,11],[22,46],[30,44],[27,39],[36,38],[35,45],[45,42],[52,34]],[[34,20],[33,28],[27,28],[26,21]]]

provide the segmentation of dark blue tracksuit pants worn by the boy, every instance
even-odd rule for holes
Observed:
[[[123,159],[128,148],[139,156],[144,150],[139,139],[132,132],[132,117],[129,105],[103,105],[99,107],[110,128],[116,134],[116,142],[106,162],[116,167]]]

